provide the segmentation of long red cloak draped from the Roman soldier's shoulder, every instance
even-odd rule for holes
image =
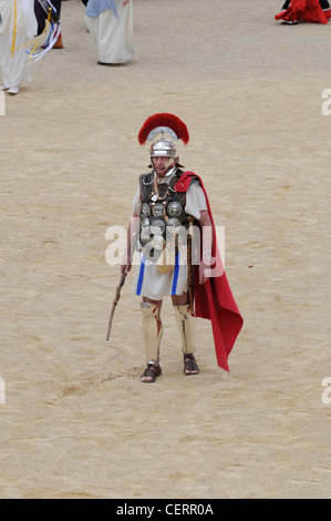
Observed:
[[[174,188],[177,192],[186,192],[192,177],[197,177],[199,180],[200,186],[206,196],[207,210],[213,225],[211,256],[213,259],[215,259],[215,264],[211,266],[211,268],[217,266],[218,269],[221,269],[220,276],[211,276],[206,280],[205,284],[198,284],[198,266],[195,266],[195,280],[197,280],[194,293],[195,316],[207,318],[211,321],[217,364],[219,367],[229,372],[228,357],[240,333],[244,319],[235,302],[221,264],[221,258],[216,241],[214,218],[201,178],[194,172],[185,172],[177,181]]]

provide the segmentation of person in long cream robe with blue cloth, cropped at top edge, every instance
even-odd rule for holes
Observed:
[[[86,25],[99,52],[99,64],[126,63],[134,58],[132,0],[114,0],[116,18],[110,0],[89,0]]]

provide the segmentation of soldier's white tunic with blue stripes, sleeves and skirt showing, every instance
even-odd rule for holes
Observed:
[[[133,210],[141,212],[139,188],[133,200]],[[185,212],[195,218],[200,218],[200,212],[207,210],[206,197],[203,188],[192,183],[186,192]],[[177,266],[170,273],[159,273],[156,264],[146,260],[144,254],[138,254],[132,293],[143,297],[161,300],[165,295],[182,295],[187,292],[187,264],[186,249],[177,258]]]

